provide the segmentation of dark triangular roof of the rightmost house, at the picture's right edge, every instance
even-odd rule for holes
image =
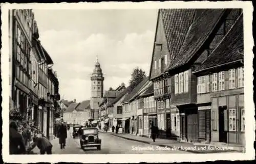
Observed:
[[[196,70],[200,71],[221,64],[241,60],[243,56],[238,53],[244,50],[243,14],[241,14],[218,47]]]

